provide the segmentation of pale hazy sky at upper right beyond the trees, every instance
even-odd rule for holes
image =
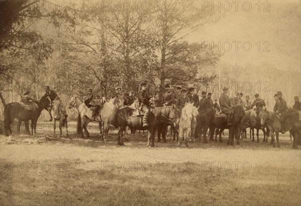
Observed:
[[[201,3],[206,6],[207,2]],[[238,64],[263,62],[272,63],[279,69],[286,70],[290,68],[294,71],[300,71],[300,1],[268,1],[263,5],[261,1],[260,12],[258,12],[258,1],[249,1],[252,8],[249,12],[242,9],[241,1],[238,4],[237,12],[235,4],[229,1],[232,6],[231,11],[227,12],[228,5],[221,4],[221,10],[224,11],[224,17],[216,24],[196,31],[186,40],[190,42],[214,41],[215,45],[221,43],[221,51],[224,51],[222,44],[226,41],[231,43],[231,50],[225,52],[222,61]],[[217,5],[217,2],[216,2]],[[209,5],[210,6],[210,5]],[[264,8],[266,11],[263,12]],[[214,8],[217,10],[218,8]],[[248,4],[244,5],[248,10]],[[233,41],[240,41],[238,51],[235,51]],[[242,43],[250,42],[252,48],[249,52],[243,51]],[[263,42],[265,42],[263,44]],[[258,52],[257,42],[260,42],[260,52]],[[249,44],[245,44],[244,49],[248,49]],[[268,46],[268,48],[266,48]],[[224,44],[224,49],[228,50],[229,45]],[[263,52],[264,48],[270,50]],[[218,49],[218,48],[216,48]]]

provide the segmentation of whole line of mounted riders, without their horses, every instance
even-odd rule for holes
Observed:
[[[88,90],[88,98],[85,100],[85,105],[89,107],[91,110],[93,110],[92,113],[92,119],[95,120],[95,118],[99,115],[100,110],[103,107],[103,104],[106,102],[105,98],[105,88],[106,88],[106,79],[102,78],[98,84],[96,84],[92,89]],[[150,98],[146,94],[147,90],[147,83],[143,82],[140,84],[140,89],[137,94],[137,102],[134,100],[133,92],[126,93],[124,92],[122,94],[121,88],[116,87],[116,95],[120,95],[124,99],[124,105],[130,106],[134,105],[132,108],[137,108],[139,111],[144,112],[143,116],[143,127],[148,126],[148,115],[149,115],[149,108],[150,107],[158,107],[160,105],[163,106],[174,106],[177,111],[177,116],[181,116],[181,111],[186,105],[186,103],[193,103],[195,107],[198,108],[198,111],[201,112],[205,109],[215,109],[217,110],[217,113],[224,113],[227,116],[227,126],[230,126],[231,118],[233,116],[233,111],[235,107],[241,106],[244,108],[244,110],[249,110],[256,107],[255,111],[257,113],[257,116],[259,114],[260,108],[265,106],[265,102],[263,99],[259,97],[259,94],[255,94],[255,100],[251,103],[249,100],[249,96],[246,96],[245,101],[242,100],[242,93],[235,93],[234,98],[230,98],[228,96],[229,88],[224,87],[223,93],[220,95],[219,98],[219,105],[217,103],[217,99],[213,102],[211,99],[212,93],[208,93],[208,96],[206,97],[206,92],[202,91],[201,97],[198,96],[198,91],[195,90],[195,88],[189,88],[188,91],[184,88],[181,88],[181,86],[177,85],[174,88],[170,87],[169,84],[166,84],[164,86],[166,89],[166,92],[161,99],[159,94],[154,96],[153,98]],[[30,92],[26,92],[24,94],[24,97],[22,98],[21,102],[23,102],[24,107],[26,110],[32,110],[34,111],[37,108],[37,105],[34,103],[34,100],[30,97]],[[53,102],[58,97],[57,93],[54,90],[51,90],[49,86],[45,86],[45,95],[42,97],[49,99],[50,102]],[[274,106],[274,112],[278,114],[280,122],[281,122],[281,132],[284,133],[285,128],[283,124],[283,116],[285,112],[287,111],[287,104],[286,101],[282,98],[282,93],[280,91],[277,92],[277,94],[274,95],[275,98],[275,106]],[[295,104],[293,106],[293,109],[301,110],[301,103],[298,100],[298,97],[294,97]],[[60,102],[60,107],[62,110],[62,114],[67,117],[66,113],[66,103],[64,101]],[[49,114],[50,114],[50,120],[52,121],[52,115],[51,115],[51,104],[48,108]],[[176,120],[176,126],[179,124],[179,118]]]

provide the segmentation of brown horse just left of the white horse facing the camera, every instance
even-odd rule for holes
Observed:
[[[175,125],[174,125],[176,118],[178,117],[175,107],[174,106],[158,107],[155,116],[156,116],[156,122],[158,124],[158,141],[159,142],[161,141],[161,134],[162,134],[163,142],[166,142],[167,127],[169,125],[171,126],[171,129],[173,131],[173,140],[175,140],[176,135],[178,137],[178,131],[175,129]]]

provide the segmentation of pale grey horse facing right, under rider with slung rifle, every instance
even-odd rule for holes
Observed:
[[[109,101],[103,104],[103,108],[100,110],[100,114],[96,117],[95,121],[99,123],[99,136],[100,139],[107,140],[109,125],[112,120],[116,117],[116,113],[120,107],[123,107],[123,97],[121,95],[116,95],[114,98],[111,98]],[[93,111],[82,103],[78,107],[78,119],[77,119],[77,127],[80,128],[81,137],[84,138],[83,129],[86,132],[87,138],[89,138],[90,134],[87,130],[87,125],[90,121],[94,121],[92,118]],[[104,135],[102,134],[102,127]]]

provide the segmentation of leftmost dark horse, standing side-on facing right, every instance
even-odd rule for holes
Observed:
[[[36,101],[35,101],[36,102]],[[50,101],[48,99],[40,99],[36,102],[38,108],[36,111],[27,110],[25,111],[24,107],[19,102],[12,102],[5,105],[4,108],[4,133],[6,136],[9,136],[9,131],[12,133],[10,128],[12,122],[15,118],[19,120],[18,122],[18,133],[20,132],[20,126],[22,121],[31,120],[31,134],[36,134],[37,121],[43,109],[47,110]]]

